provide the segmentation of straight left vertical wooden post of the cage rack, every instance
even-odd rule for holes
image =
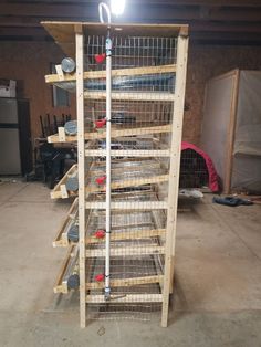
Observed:
[[[84,140],[84,34],[82,24],[75,25],[76,49],[76,107],[77,107],[77,172],[79,172],[79,269],[80,269],[80,325],[86,326],[85,290],[85,140]]]

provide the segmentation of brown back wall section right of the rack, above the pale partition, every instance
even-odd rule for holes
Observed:
[[[261,48],[190,46],[185,112],[184,139],[200,144],[206,82],[233,69],[261,70]]]

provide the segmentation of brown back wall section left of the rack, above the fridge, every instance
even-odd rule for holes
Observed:
[[[22,96],[30,99],[32,138],[41,134],[40,115],[64,113],[75,116],[74,96],[70,96],[70,108],[54,108],[52,87],[44,82],[44,75],[50,74],[50,64],[61,62],[62,57],[62,51],[51,42],[0,43],[0,78],[18,80]]]

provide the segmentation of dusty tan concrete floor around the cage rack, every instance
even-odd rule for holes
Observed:
[[[261,206],[184,202],[174,311],[159,323],[92,322],[52,285],[65,250],[52,239],[66,202],[41,183],[0,185],[0,346],[261,346]]]

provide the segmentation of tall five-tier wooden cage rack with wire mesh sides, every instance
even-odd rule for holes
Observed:
[[[53,199],[75,197],[53,242],[69,248],[54,291],[79,288],[82,327],[88,317],[115,313],[133,317],[137,312],[144,316],[157,309],[166,327],[174,282],[188,27],[111,25],[112,297],[105,302],[106,24],[43,25],[76,62],[73,73],[56,66],[56,74],[45,76],[46,83],[75,92],[77,108],[76,135],[60,128],[49,137],[50,143],[77,141],[77,165],[51,193]]]

